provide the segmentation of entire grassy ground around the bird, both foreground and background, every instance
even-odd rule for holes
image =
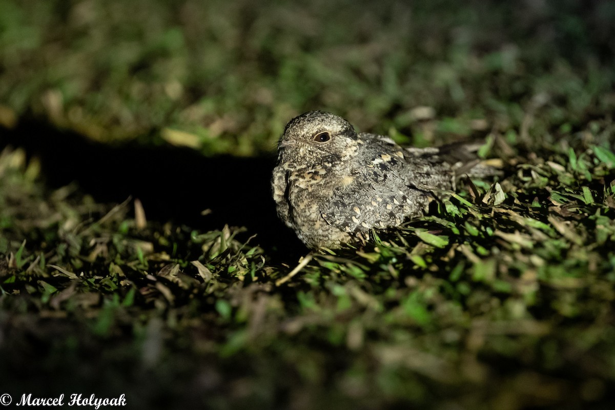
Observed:
[[[0,2],[0,388],[131,408],[608,408],[615,9],[515,7]],[[300,259],[252,223],[274,207],[247,195],[260,171],[227,168],[315,108],[417,146],[485,138],[504,175]],[[63,132],[119,148],[79,162],[97,151],[25,142]],[[124,175],[126,144],[135,164],[181,146],[213,165]],[[88,164],[115,179],[83,182]],[[177,211],[101,200],[122,178]],[[195,201],[224,219],[181,215]]]

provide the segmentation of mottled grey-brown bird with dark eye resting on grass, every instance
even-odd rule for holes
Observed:
[[[365,241],[372,230],[425,215],[459,175],[485,173],[476,148],[402,148],[387,136],[357,133],[330,112],[305,112],[288,122],[277,144],[277,214],[312,249]]]

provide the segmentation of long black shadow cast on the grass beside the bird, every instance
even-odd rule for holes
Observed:
[[[120,203],[127,197],[143,203],[149,220],[208,231],[245,226],[253,244],[293,263],[308,250],[276,215],[271,198],[275,158],[205,157],[188,148],[109,146],[36,120],[0,128],[0,149],[25,149],[41,160],[49,187],[72,183],[98,202]],[[210,209],[208,215],[201,215]]]

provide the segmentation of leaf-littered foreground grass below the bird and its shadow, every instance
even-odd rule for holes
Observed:
[[[137,408],[603,403],[615,154],[540,154],[373,244],[314,254],[286,281],[290,267],[249,232],[147,223],[136,202],[49,192],[36,161],[5,150],[2,385],[36,391],[15,375],[46,379],[42,366],[47,395],[125,393]]]

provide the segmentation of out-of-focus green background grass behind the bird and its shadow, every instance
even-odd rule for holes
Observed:
[[[208,153],[271,151],[315,108],[418,144],[550,143],[615,108],[614,19],[608,1],[3,0],[0,101],[5,123]]]

